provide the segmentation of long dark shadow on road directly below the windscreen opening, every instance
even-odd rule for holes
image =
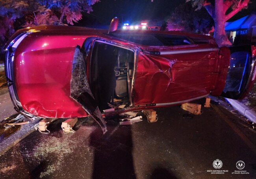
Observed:
[[[132,157],[132,126],[108,122],[108,132],[100,128],[91,133],[90,145],[95,148],[93,179],[135,179]]]

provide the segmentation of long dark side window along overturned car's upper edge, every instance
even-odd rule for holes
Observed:
[[[182,46],[193,44],[193,42],[186,37],[176,35],[112,34],[112,36],[144,46]]]

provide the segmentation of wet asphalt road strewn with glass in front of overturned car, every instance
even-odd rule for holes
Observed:
[[[64,134],[59,119],[50,134],[33,132],[0,156],[0,179],[256,178],[256,131],[213,107],[193,119],[184,119],[180,106],[157,110],[154,123],[120,126],[108,119],[105,135],[90,118],[78,121],[76,133]],[[216,159],[228,172],[208,172],[216,170]],[[240,160],[249,174],[232,174]]]

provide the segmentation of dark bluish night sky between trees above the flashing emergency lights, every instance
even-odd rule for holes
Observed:
[[[118,16],[123,21],[164,19],[185,0],[102,0],[93,5],[92,14],[111,20]]]

